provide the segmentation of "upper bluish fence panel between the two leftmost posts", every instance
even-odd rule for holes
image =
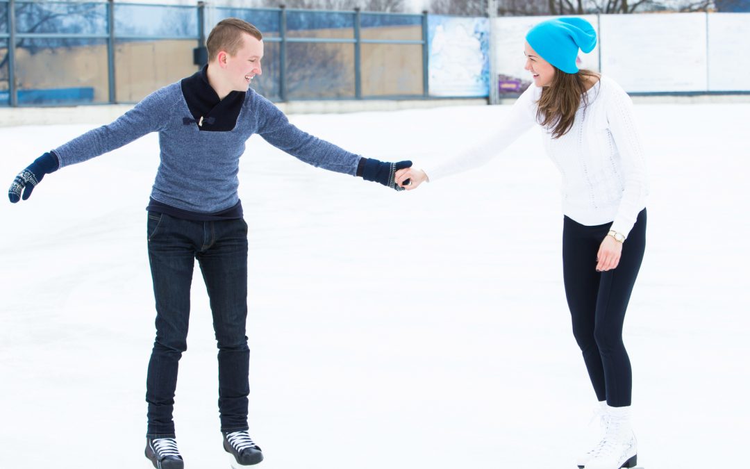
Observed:
[[[19,34],[107,34],[104,3],[17,3],[15,13]]]

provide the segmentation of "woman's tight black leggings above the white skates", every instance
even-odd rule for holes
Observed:
[[[630,405],[632,372],[622,344],[622,322],[646,248],[646,209],[638,214],[622,245],[619,265],[596,272],[596,254],[611,223],[587,227],[565,217],[562,275],[573,320],[573,335],[583,352],[599,401]]]

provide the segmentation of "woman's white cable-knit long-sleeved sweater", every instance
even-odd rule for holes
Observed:
[[[529,86],[505,122],[483,143],[435,167],[424,167],[430,181],[487,163],[536,122],[541,88]],[[562,212],[580,224],[612,221],[611,230],[628,236],[646,206],[648,183],[633,104],[620,86],[601,77],[588,91],[567,134],[545,138],[547,155],[562,175]]]

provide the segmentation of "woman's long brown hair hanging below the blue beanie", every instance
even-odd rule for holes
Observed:
[[[586,98],[587,77],[598,77],[590,70],[580,70],[577,74],[566,74],[555,68],[555,76],[549,86],[541,89],[536,120],[544,128],[551,129],[552,138],[567,134],[573,127],[575,113],[583,98],[583,109],[589,101]]]

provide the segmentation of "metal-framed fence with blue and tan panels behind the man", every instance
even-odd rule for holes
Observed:
[[[274,101],[428,98],[426,14],[0,0],[0,106],[137,102],[195,73],[226,17],[263,32]]]

